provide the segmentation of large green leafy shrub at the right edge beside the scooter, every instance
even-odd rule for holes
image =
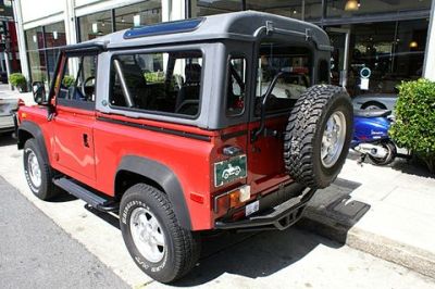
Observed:
[[[401,83],[396,122],[389,134],[399,147],[410,149],[435,171],[435,83],[427,79]]]

